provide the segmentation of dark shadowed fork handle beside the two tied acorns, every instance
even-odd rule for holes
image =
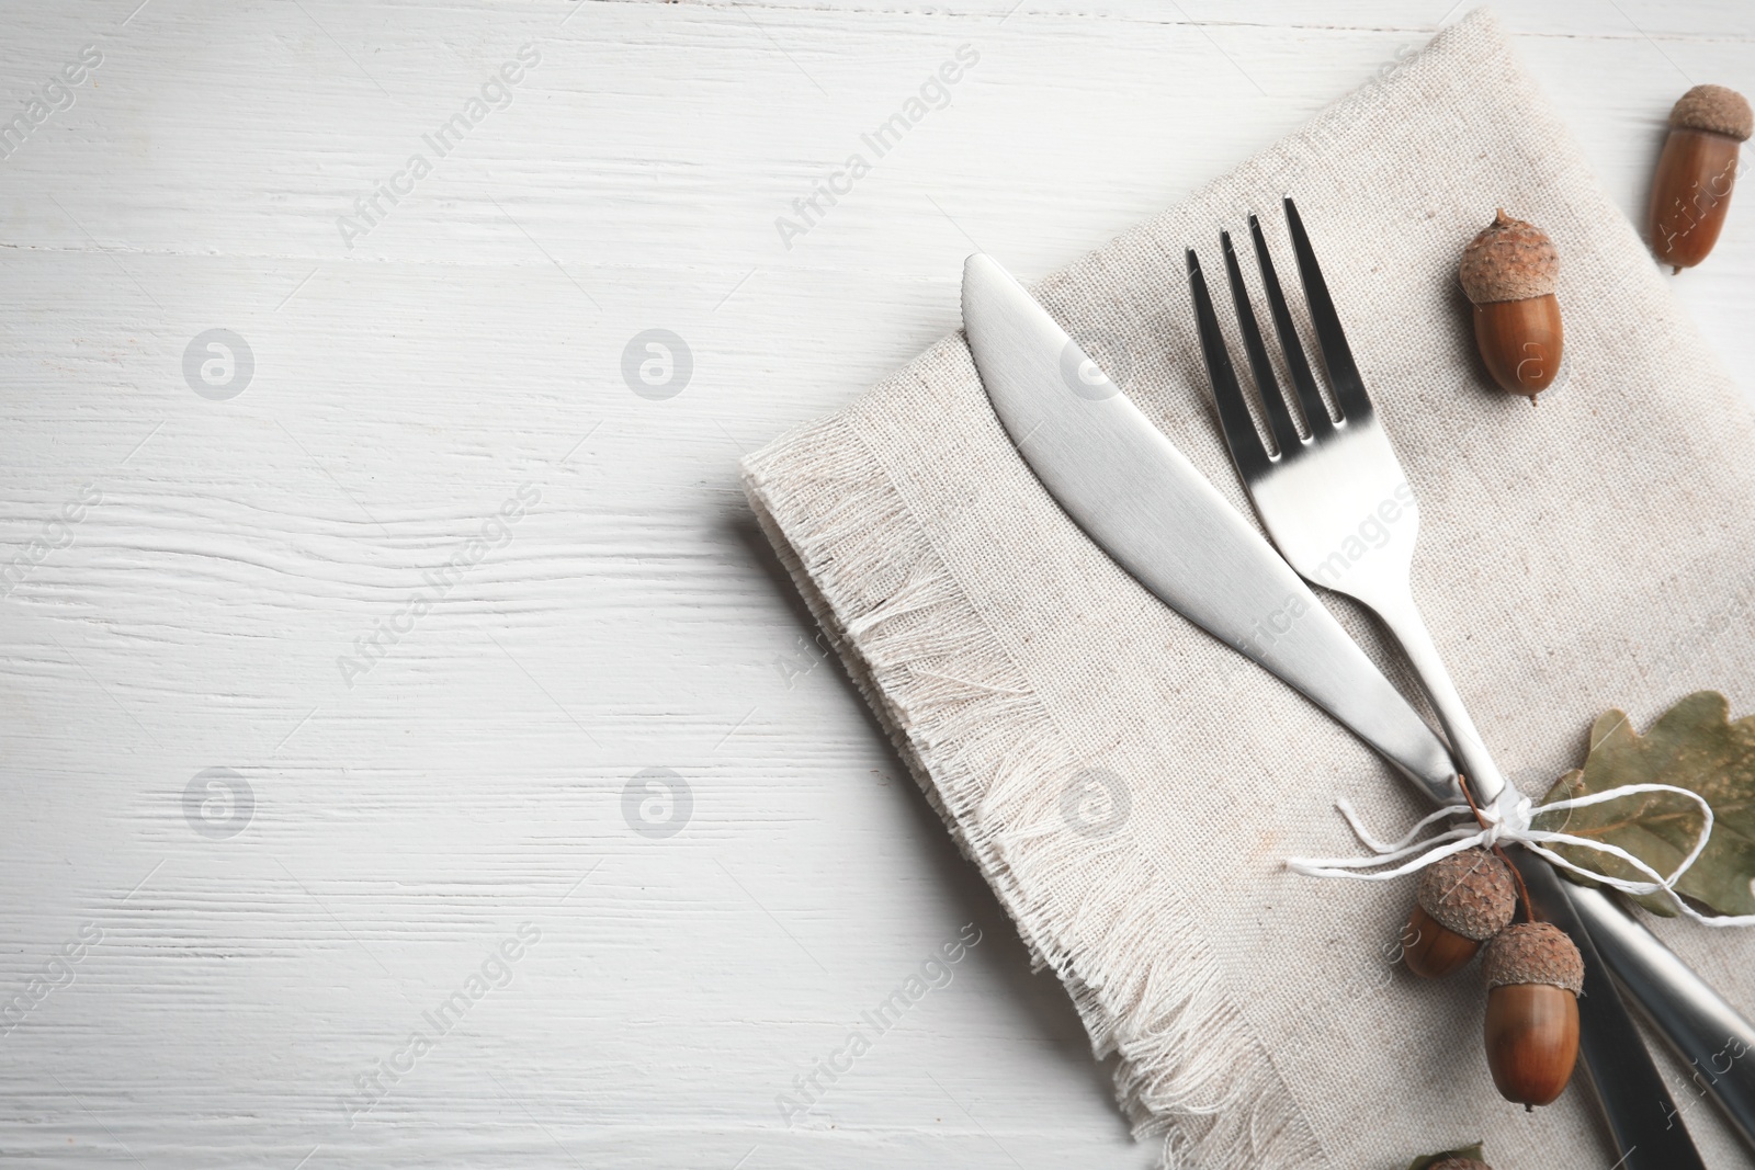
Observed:
[[[1651,1052],[1597,952],[1595,935],[1587,930],[1569,896],[1574,893],[1569,882],[1560,881],[1553,867],[1527,849],[1511,849],[1509,854],[1523,875],[1536,912],[1571,935],[1585,960],[1585,995],[1578,998],[1578,1049],[1615,1140],[1615,1152],[1620,1154],[1615,1170],[1706,1170],[1681,1121],[1683,1110],[1664,1088],[1664,1077],[1651,1063]]]

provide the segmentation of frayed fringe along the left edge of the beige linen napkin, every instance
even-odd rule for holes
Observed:
[[[1037,967],[1065,982],[1092,1049],[1120,1054],[1135,1137],[1164,1138],[1167,1170],[1322,1165],[1193,907],[1125,824],[1106,838],[1067,826],[1071,742],[860,435],[839,417],[800,428],[744,461],[744,489],[928,802]],[[1102,977],[1086,954],[1111,958]]]

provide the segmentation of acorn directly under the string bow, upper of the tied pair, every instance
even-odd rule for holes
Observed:
[[[1464,849],[1420,870],[1402,958],[1425,979],[1448,975],[1511,924],[1518,895],[1511,870],[1485,849]]]

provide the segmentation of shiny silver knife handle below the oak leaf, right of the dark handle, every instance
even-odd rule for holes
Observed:
[[[1604,965],[1694,1070],[1681,1114],[1711,1096],[1755,1149],[1755,1026],[1606,893],[1567,886]]]

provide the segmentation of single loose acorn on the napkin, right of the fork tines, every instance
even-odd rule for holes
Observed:
[[[1560,253],[1541,228],[1499,209],[1462,249],[1462,291],[1474,303],[1474,344],[1501,389],[1536,395],[1560,372],[1564,335],[1553,298]]]

